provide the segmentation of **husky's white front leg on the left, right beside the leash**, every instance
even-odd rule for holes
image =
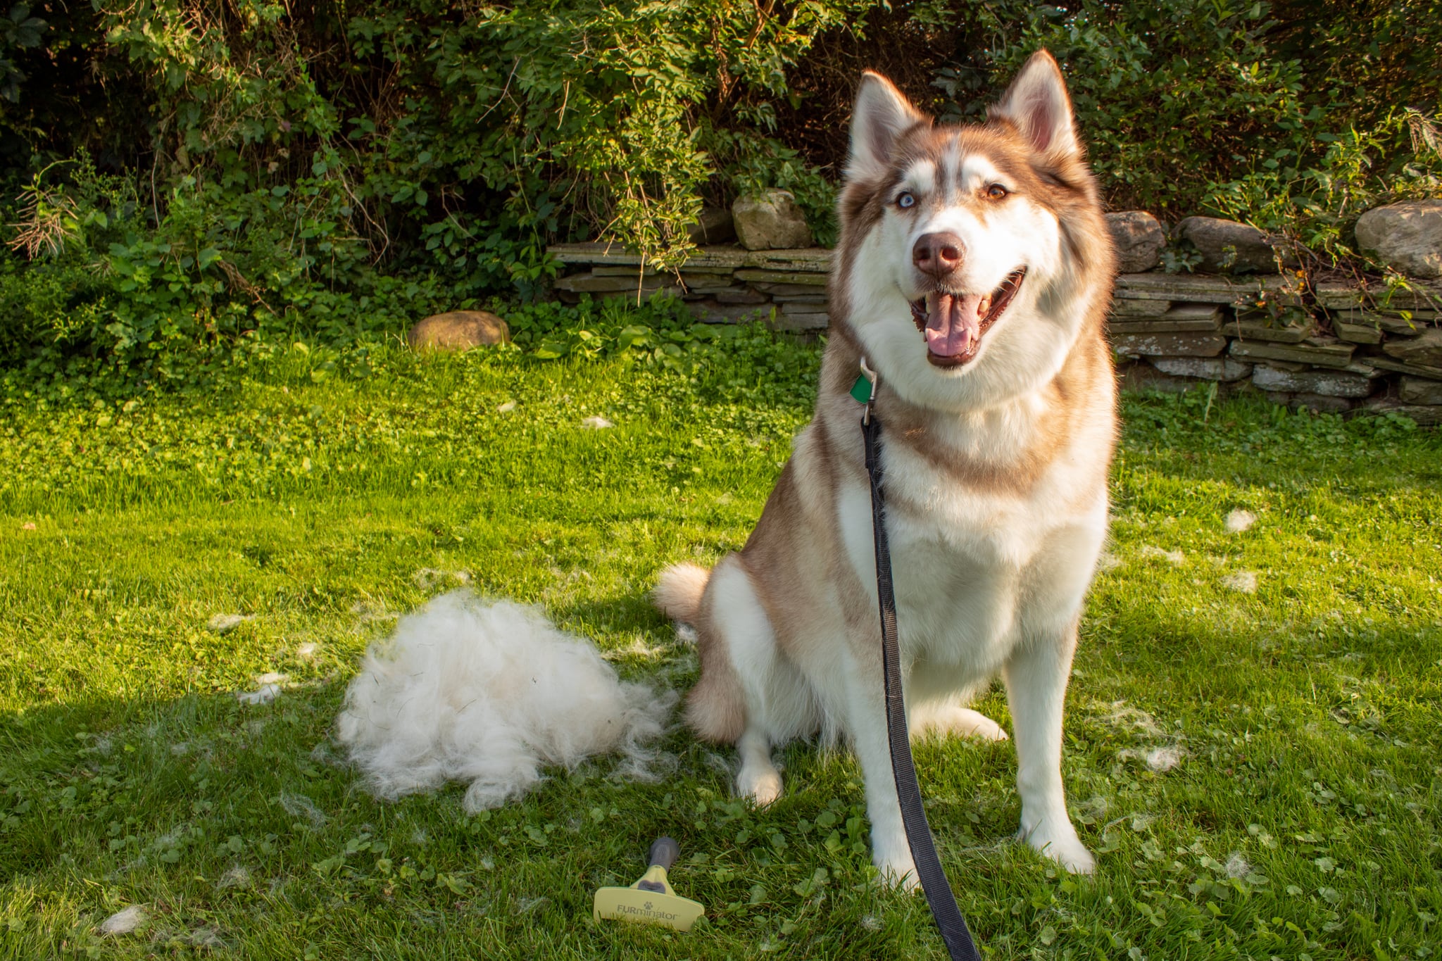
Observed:
[[[880,651],[875,658],[861,664],[852,663],[849,667],[846,725],[867,785],[871,860],[885,883],[914,889],[919,883],[916,863],[911,860],[911,846],[906,840],[895,775],[891,771]]]

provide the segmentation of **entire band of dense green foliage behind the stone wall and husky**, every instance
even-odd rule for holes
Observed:
[[[766,187],[829,242],[861,68],[973,118],[1038,46],[1116,207],[1247,219],[1332,264],[1366,206],[1439,192],[1438,0],[22,4],[0,362],[345,346],[529,301],[555,241],[675,267],[704,203]]]

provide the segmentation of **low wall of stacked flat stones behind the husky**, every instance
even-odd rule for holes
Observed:
[[[709,323],[826,328],[826,249],[707,246],[679,278],[642,272],[639,256],[601,243],[551,254],[567,265],[555,284],[565,301],[668,291]],[[1120,274],[1107,333],[1128,386],[1216,383],[1315,411],[1393,409],[1430,425],[1442,422],[1442,285],[1413,287],[1383,301],[1324,281],[1304,298],[1278,274]]]

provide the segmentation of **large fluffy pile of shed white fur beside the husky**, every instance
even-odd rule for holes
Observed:
[[[519,798],[541,768],[620,752],[645,777],[676,702],[623,683],[593,644],[529,607],[467,591],[402,617],[366,651],[337,720],[371,790],[399,798],[467,781],[467,811]]]

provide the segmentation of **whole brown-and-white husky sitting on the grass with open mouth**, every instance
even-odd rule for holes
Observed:
[[[880,375],[887,536],[913,730],[1004,739],[966,707],[1001,673],[1021,831],[1067,870],[1090,852],[1061,787],[1061,707],[1106,537],[1116,396],[1102,324],[1113,252],[1056,61],[1035,53],[983,125],[937,125],[865,73],[839,200],[816,414],[738,553],[662,573],[695,625],[691,726],[773,801],[771,746],[844,733],[872,860],[916,885],[887,746],[862,359]]]

